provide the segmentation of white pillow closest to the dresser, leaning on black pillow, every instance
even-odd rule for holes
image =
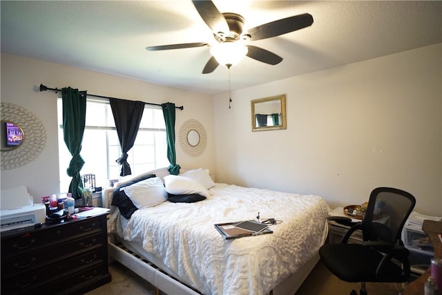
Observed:
[[[153,207],[167,200],[167,191],[158,177],[142,180],[120,190],[124,190],[138,209]]]

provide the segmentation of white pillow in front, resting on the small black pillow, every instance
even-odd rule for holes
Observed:
[[[173,195],[190,195],[191,193],[198,193],[198,195],[204,197],[209,196],[209,191],[207,191],[200,182],[184,176],[164,176],[164,184],[166,186],[166,191]]]

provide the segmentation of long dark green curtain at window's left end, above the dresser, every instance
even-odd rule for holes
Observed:
[[[81,199],[83,183],[80,171],[84,160],[81,158],[80,151],[86,124],[86,91],[65,87],[61,90],[61,97],[63,101],[64,142],[73,156],[66,170],[68,175],[72,177],[68,192],[72,193],[73,198]]]

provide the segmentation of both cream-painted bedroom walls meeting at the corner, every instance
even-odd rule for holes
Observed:
[[[208,134],[200,157],[217,182],[323,196],[331,207],[360,204],[374,187],[410,191],[416,211],[442,216],[442,45],[331,68],[211,97],[25,57],[1,54],[1,101],[44,124],[48,140],[32,162],[1,171],[1,189],[26,185],[35,199],[59,191],[56,97],[72,86],[89,93],[184,105]],[[234,81],[232,81],[234,84]],[[250,101],[287,95],[287,130],[251,132]],[[203,111],[202,111],[203,110]],[[216,153],[215,153],[216,151]]]

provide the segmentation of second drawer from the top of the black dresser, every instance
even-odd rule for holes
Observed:
[[[35,251],[26,251],[20,255],[7,256],[1,260],[1,278],[3,280],[7,276],[15,276],[45,265],[57,265],[60,260],[63,261],[82,254],[84,251],[101,249],[106,246],[106,235],[98,231],[70,240],[64,243],[62,248],[59,245],[50,245]]]

